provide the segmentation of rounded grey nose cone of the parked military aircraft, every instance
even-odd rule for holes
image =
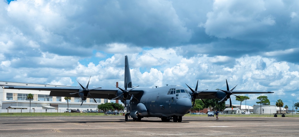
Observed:
[[[176,102],[177,113],[185,115],[192,107],[192,102],[189,98],[183,97]]]

